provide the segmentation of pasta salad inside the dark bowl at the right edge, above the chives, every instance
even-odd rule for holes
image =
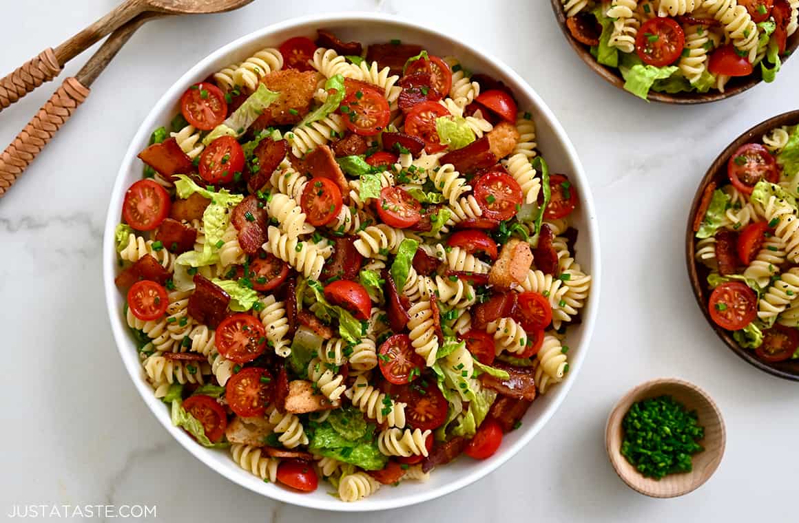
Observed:
[[[694,219],[695,256],[719,327],[769,363],[799,358],[799,125],[772,129],[728,160]]]

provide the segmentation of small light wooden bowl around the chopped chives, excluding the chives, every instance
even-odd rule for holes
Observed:
[[[622,420],[634,402],[657,398],[664,394],[681,402],[686,409],[697,411],[699,425],[705,427],[705,438],[699,444],[705,447],[705,450],[694,454],[692,460],[694,470],[691,472],[669,474],[658,481],[642,476],[622,456],[624,438]],[[618,477],[621,477],[631,489],[650,497],[678,497],[698,489],[718,468],[724,455],[726,441],[724,420],[713,399],[698,386],[677,378],[653,379],[630,390],[610,411],[605,427],[607,455]]]

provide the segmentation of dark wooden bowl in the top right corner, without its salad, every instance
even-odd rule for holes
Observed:
[[[563,10],[562,0],[551,0],[551,2],[552,10],[555,11],[555,18],[558,18],[560,30],[562,31],[563,36],[566,37],[566,40],[569,42],[571,48],[574,49],[575,53],[577,53],[578,57],[582,58],[582,61],[586,62],[586,65],[588,65],[591,69],[594,69],[594,72],[599,76],[618,87],[618,89],[622,89],[622,91],[627,93],[627,91],[624,89],[624,79],[622,78],[622,74],[618,72],[618,69],[601,65],[593,56],[591,56],[588,46],[578,42],[573,36],[571,36],[569,28],[566,26],[566,12]],[[795,32],[790,36],[790,38],[788,38],[788,44],[785,46],[785,53],[783,56],[781,56],[783,65],[785,65],[785,61],[788,61],[789,54],[793,53],[797,47],[799,47],[799,31]],[[731,79],[726,85],[724,93],[720,93],[717,90],[712,90],[709,93],[676,94],[656,93],[654,91],[650,91],[649,100],[660,101],[666,104],[705,104],[710,101],[725,100],[726,98],[733,97],[736,94],[743,93],[745,90],[753,88],[761,81],[762,78],[760,76],[760,67],[758,66],[755,68],[755,73],[752,75]],[[629,94],[630,96],[634,96],[632,93]]]

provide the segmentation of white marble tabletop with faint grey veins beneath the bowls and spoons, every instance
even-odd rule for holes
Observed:
[[[116,1],[5,3],[2,73]],[[330,10],[383,10],[428,23],[503,57],[525,77],[559,117],[590,176],[605,269],[590,354],[559,412],[527,448],[458,493],[352,516],[259,497],[182,450],[129,382],[101,288],[106,201],[129,138],[154,101],[233,38]],[[0,202],[0,518],[15,504],[146,503],[158,506],[161,521],[796,521],[788,510],[799,470],[799,386],[746,365],[716,338],[691,295],[682,239],[702,173],[743,130],[796,109],[797,81],[799,63],[789,63],[775,84],[731,101],[646,105],[578,60],[547,0],[256,0],[235,13],[152,22]],[[54,88],[0,114],[0,142],[10,142]],[[603,429],[626,390],[664,375],[714,396],[728,440],[705,486],[658,501],[618,480]]]

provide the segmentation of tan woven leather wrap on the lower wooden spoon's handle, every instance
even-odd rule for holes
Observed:
[[[0,198],[6,196],[22,172],[42,152],[56,131],[89,96],[89,88],[75,77],[67,78],[36,116],[0,155]]]

